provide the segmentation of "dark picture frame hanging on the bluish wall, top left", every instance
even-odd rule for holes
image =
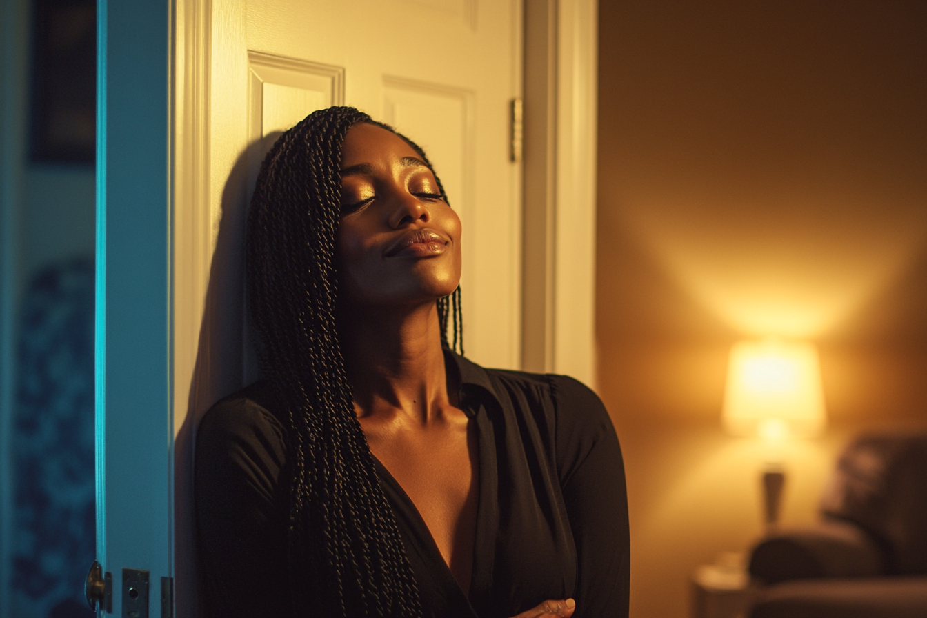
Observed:
[[[95,0],[34,0],[30,109],[30,161],[94,164]]]

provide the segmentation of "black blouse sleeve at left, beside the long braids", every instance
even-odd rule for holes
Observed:
[[[286,458],[273,416],[225,400],[197,431],[194,493],[207,616],[292,614],[278,485]]]

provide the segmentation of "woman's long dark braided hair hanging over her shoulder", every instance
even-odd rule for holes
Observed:
[[[399,527],[354,411],[337,333],[341,147],[353,107],[312,113],[264,158],[248,214],[246,261],[261,369],[288,419],[289,585],[297,615],[418,616]],[[399,135],[422,158],[422,149]],[[436,175],[436,180],[437,175]],[[438,188],[444,188],[438,180]],[[441,343],[463,354],[460,288],[438,299]]]

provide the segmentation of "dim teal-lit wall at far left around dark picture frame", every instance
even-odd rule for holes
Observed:
[[[92,165],[36,165],[27,158],[32,2],[4,0],[0,16],[0,616],[44,616],[63,596],[83,594],[83,582],[67,572],[85,573],[89,561],[48,565],[59,569],[61,581],[32,597],[14,582],[23,570],[14,568],[13,554],[26,532],[14,522],[21,505],[13,494],[34,472],[17,469],[13,458],[14,446],[21,447],[21,442],[14,444],[21,437],[14,423],[20,317],[26,288],[38,271],[66,259],[93,261],[95,173]],[[78,433],[92,435],[90,412],[88,426]],[[44,549],[67,544],[56,538],[44,542]]]

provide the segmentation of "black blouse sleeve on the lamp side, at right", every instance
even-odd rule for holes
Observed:
[[[615,427],[590,388],[552,379],[557,469],[577,548],[574,618],[627,618],[628,494]]]

